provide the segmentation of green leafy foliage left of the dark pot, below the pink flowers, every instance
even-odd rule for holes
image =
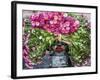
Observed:
[[[30,34],[28,41],[28,46],[30,48],[29,57],[34,62],[35,60],[33,58],[41,57],[47,47],[54,42],[54,35],[42,29],[31,29],[30,26],[26,26],[24,31]],[[32,50],[33,47],[35,50]]]

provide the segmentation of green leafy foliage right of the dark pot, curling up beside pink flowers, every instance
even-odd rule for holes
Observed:
[[[80,21],[80,28],[77,32],[71,35],[63,36],[63,40],[71,42],[70,54],[74,64],[82,65],[82,62],[90,56],[90,29],[85,25],[87,20],[82,16],[77,16],[75,13],[69,15],[76,17]]]

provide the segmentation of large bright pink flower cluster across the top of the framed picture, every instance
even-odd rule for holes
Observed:
[[[71,34],[76,32],[79,21],[64,12],[34,12],[30,16],[33,28],[40,28],[53,34]]]

